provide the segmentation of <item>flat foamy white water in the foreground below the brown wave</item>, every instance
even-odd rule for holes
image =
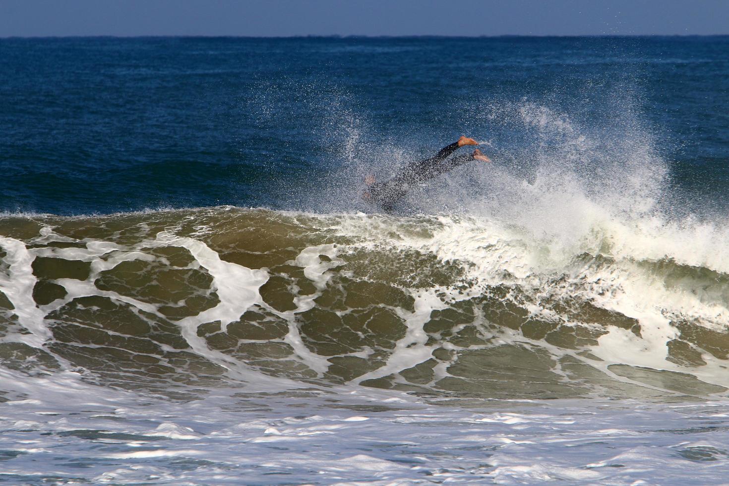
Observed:
[[[6,387],[19,377],[3,373]],[[12,484],[247,484],[725,479],[721,402],[502,401],[469,411],[395,392],[217,389],[187,403],[79,385],[26,388],[0,415]],[[42,387],[42,388],[41,388]],[[82,407],[78,407],[80,396]],[[316,453],[312,453],[316,451]]]

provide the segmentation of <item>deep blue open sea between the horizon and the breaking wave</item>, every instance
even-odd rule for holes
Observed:
[[[600,143],[640,128],[671,184],[725,199],[725,36],[71,38],[0,40],[0,208],[317,209],[300,187],[330,190],[343,162],[392,146],[426,157],[465,133],[529,159],[534,138],[494,103],[544,106]]]

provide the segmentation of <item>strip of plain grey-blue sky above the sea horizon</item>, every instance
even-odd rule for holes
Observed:
[[[729,0],[0,0],[0,37],[332,34],[729,34]]]

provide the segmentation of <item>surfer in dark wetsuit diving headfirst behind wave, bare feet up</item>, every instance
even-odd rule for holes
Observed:
[[[472,154],[459,155],[451,160],[446,160],[449,155],[464,145],[478,145],[478,142],[473,138],[461,136],[457,142],[440,149],[440,152],[434,157],[405,165],[402,171],[387,181],[378,182],[375,180],[375,176],[367,176],[364,178],[367,189],[362,192],[362,199],[380,205],[385,211],[392,211],[392,205],[408,194],[410,187],[415,184],[433,179],[435,176],[440,176],[471,160],[491,162],[491,159],[482,154],[479,149],[475,149]]]

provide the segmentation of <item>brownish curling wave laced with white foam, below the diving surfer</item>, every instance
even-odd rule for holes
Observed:
[[[475,216],[5,216],[0,359],[169,396],[261,377],[440,397],[723,395],[729,258],[701,248],[707,232],[607,219],[556,247]]]

